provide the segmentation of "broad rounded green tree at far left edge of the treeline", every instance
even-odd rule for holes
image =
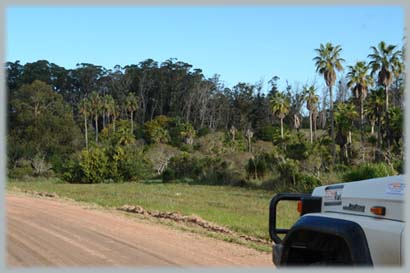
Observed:
[[[79,147],[81,133],[72,109],[52,86],[35,80],[23,84],[9,97],[8,156],[12,162],[53,158],[53,168]]]

